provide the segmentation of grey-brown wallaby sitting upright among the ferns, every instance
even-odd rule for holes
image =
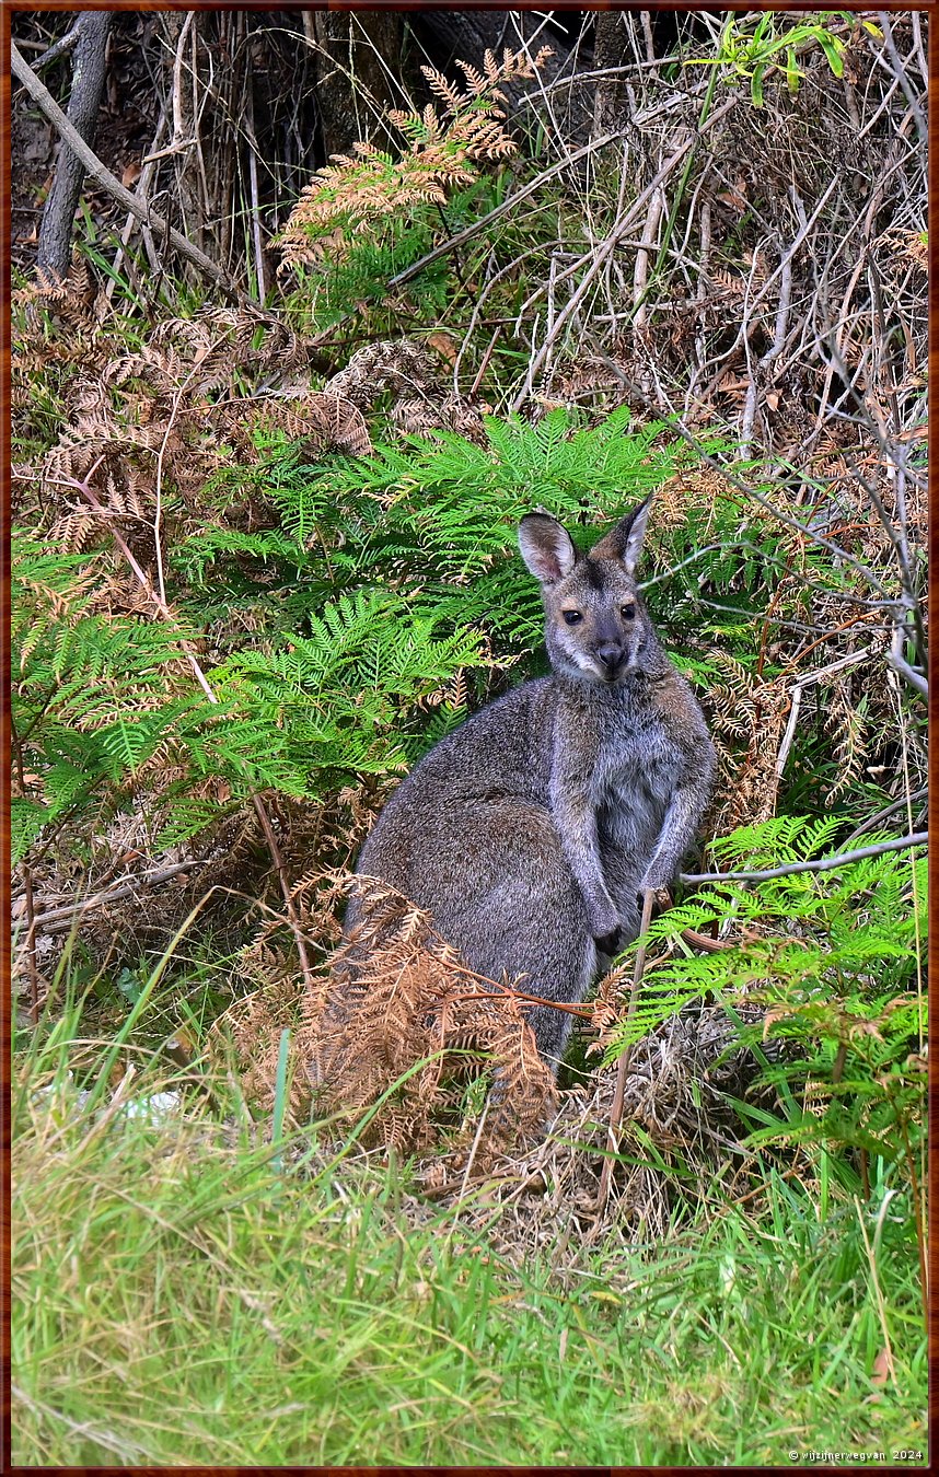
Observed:
[[[641,894],[673,880],[713,783],[701,709],[636,586],[650,502],[589,554],[549,514],[521,520],[552,672],[437,743],[357,863],[427,908],[477,973],[561,1003],[636,938]],[[526,1009],[557,1072],[570,1015]]]

